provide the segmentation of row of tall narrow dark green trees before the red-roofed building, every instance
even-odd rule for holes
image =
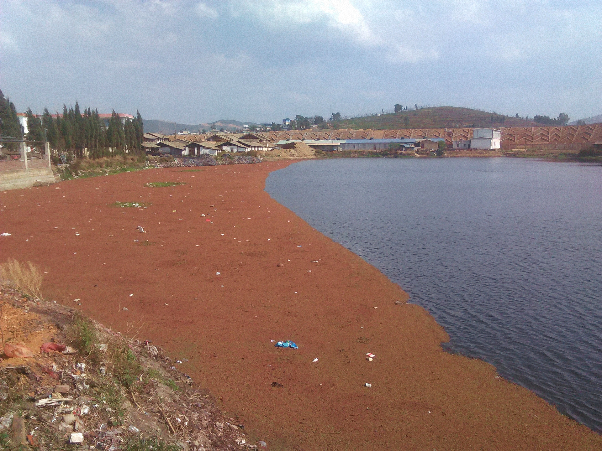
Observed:
[[[93,110],[88,106],[81,114],[78,102],[75,102],[75,108],[67,109],[64,105],[63,114],[56,117],[52,117],[48,108],[44,109],[41,117],[36,117],[31,109],[27,110],[26,115],[27,140],[45,141],[46,129],[46,141],[52,149],[68,152],[76,158],[82,158],[85,150],[89,158],[141,152],[144,126],[140,112],[137,112],[134,120],[126,119],[122,123],[113,110],[108,126],[98,117],[98,109]]]

